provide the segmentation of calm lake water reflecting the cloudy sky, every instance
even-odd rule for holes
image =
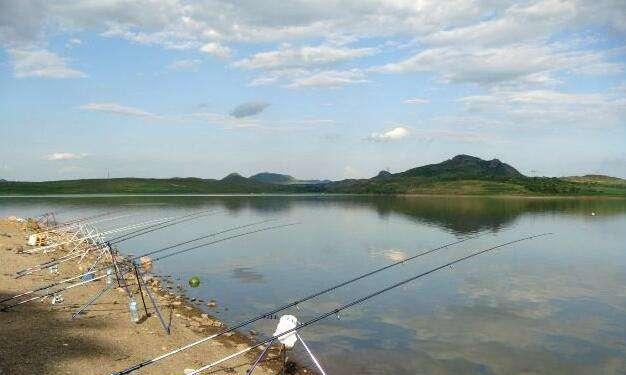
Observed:
[[[221,214],[122,244],[150,249],[266,218],[301,224],[156,264],[202,279],[190,297],[232,323],[419,250],[479,239],[289,311],[301,320],[500,242],[516,244],[421,279],[302,331],[329,374],[626,374],[626,200],[367,197],[0,198],[0,216],[110,209],[146,218]],[[595,213],[595,216],[592,216]],[[255,329],[271,334],[276,321]],[[158,353],[154,353],[158,354]]]

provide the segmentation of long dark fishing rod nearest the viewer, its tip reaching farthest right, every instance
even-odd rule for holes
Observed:
[[[368,295],[365,295],[365,296],[363,296],[361,298],[357,298],[357,299],[355,299],[355,300],[353,300],[353,301],[351,301],[349,303],[343,304],[343,305],[341,305],[341,306],[339,306],[339,307],[337,307],[337,308],[335,308],[333,310],[327,311],[327,312],[325,312],[325,313],[323,313],[321,315],[318,315],[318,316],[316,316],[316,317],[314,317],[314,318],[312,318],[310,320],[307,320],[306,322],[298,323],[294,328],[291,328],[289,330],[285,330],[283,332],[280,332],[279,334],[273,335],[273,336],[271,336],[271,337],[269,337],[269,338],[267,338],[265,340],[262,340],[259,343],[255,344],[255,345],[252,345],[249,348],[240,350],[240,351],[238,351],[236,353],[228,355],[228,356],[226,356],[226,357],[224,357],[222,359],[219,359],[219,360],[217,360],[215,362],[212,362],[212,363],[209,363],[209,364],[207,364],[205,366],[199,367],[196,370],[190,372],[188,375],[199,374],[199,373],[201,373],[201,372],[203,372],[205,370],[208,370],[208,369],[210,369],[212,367],[215,367],[215,366],[217,366],[217,365],[219,365],[221,363],[224,363],[224,362],[226,362],[228,360],[231,360],[233,358],[239,357],[239,356],[241,356],[241,355],[243,355],[245,353],[248,353],[248,352],[250,352],[250,351],[252,351],[252,350],[254,350],[254,349],[256,349],[256,348],[258,348],[260,346],[263,346],[263,345],[265,345],[265,344],[267,344],[269,342],[272,342],[274,340],[277,340],[277,339],[279,339],[281,337],[289,336],[292,333],[296,333],[297,334],[297,332],[299,330],[301,330],[301,329],[303,329],[305,327],[308,327],[310,325],[313,325],[313,324],[315,324],[315,323],[317,323],[317,322],[319,322],[319,321],[321,321],[323,319],[326,319],[329,316],[337,315],[341,311],[347,310],[347,309],[349,309],[349,308],[351,308],[351,307],[353,307],[355,305],[359,305],[359,304],[361,304],[363,302],[366,302],[367,300],[370,300],[370,299],[372,299],[372,298],[374,298],[376,296],[379,296],[379,295],[381,295],[383,293],[386,293],[386,292],[388,292],[388,291],[390,291],[392,289],[398,288],[398,287],[400,287],[402,285],[408,284],[408,283],[410,283],[412,281],[415,281],[415,280],[420,279],[422,277],[428,276],[428,275],[430,275],[432,273],[435,273],[435,272],[440,271],[442,269],[445,269],[445,268],[448,268],[450,266],[453,266],[453,265],[455,265],[457,263],[461,263],[461,262],[467,261],[467,260],[469,260],[471,258],[477,257],[479,255],[482,255],[482,254],[485,254],[485,253],[488,253],[488,252],[491,252],[491,251],[494,251],[494,250],[496,250],[498,248],[501,248],[501,247],[504,247],[504,246],[512,245],[514,243],[518,243],[518,242],[522,242],[522,241],[526,241],[526,240],[530,240],[530,239],[534,239],[534,238],[538,238],[538,237],[542,237],[542,236],[547,236],[547,235],[551,235],[551,234],[553,234],[553,233],[542,233],[542,234],[537,234],[537,235],[533,235],[533,236],[520,238],[520,239],[517,239],[517,240],[514,240],[514,241],[505,242],[503,244],[496,245],[496,246],[493,246],[493,247],[490,247],[490,248],[487,248],[487,249],[484,249],[484,250],[481,250],[481,251],[477,251],[475,253],[466,255],[466,256],[464,256],[462,258],[457,258],[457,259],[455,259],[455,260],[453,260],[451,262],[448,262],[448,263],[443,264],[441,266],[432,268],[432,269],[430,269],[430,270],[428,270],[426,272],[422,272],[422,273],[417,274],[415,276],[409,277],[408,279],[404,279],[404,280],[399,281],[397,283],[391,284],[391,285],[389,285],[389,286],[387,286],[387,287],[385,287],[383,289],[379,289],[379,290],[377,290],[377,291],[375,291],[373,293],[370,293]],[[119,373],[114,373],[114,374],[119,374]]]

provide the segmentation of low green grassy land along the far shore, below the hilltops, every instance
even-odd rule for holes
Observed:
[[[589,178],[489,178],[406,177],[345,180],[327,185],[273,185],[247,179],[231,181],[171,179],[91,179],[44,182],[0,182],[2,195],[53,194],[248,194],[248,193],[342,193],[342,194],[433,194],[521,196],[621,196],[624,180]]]

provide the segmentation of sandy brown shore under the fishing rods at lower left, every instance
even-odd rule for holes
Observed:
[[[30,248],[26,246],[27,234],[24,223],[0,220],[0,299],[79,274],[76,263],[68,262],[57,275],[46,271],[14,279],[17,270],[62,254],[60,251],[48,255],[24,253]],[[130,278],[128,282],[133,283]],[[151,308],[148,318],[131,323],[128,297],[121,288],[105,293],[85,315],[70,320],[78,307],[103,288],[104,281],[64,292],[61,304],[37,300],[0,312],[0,375],[109,374],[223,329],[218,320],[202,315],[190,302],[161,288],[157,279],[151,285],[158,295],[165,320],[171,319],[171,335],[164,332]],[[139,295],[136,299],[140,313],[143,313]],[[149,301],[147,296],[146,301]],[[231,334],[137,373],[183,374],[185,369],[199,367],[249,347],[251,342],[242,334]],[[234,359],[207,373],[245,374],[255,358],[251,354]],[[271,348],[268,360],[255,370],[255,374],[279,373],[278,358],[277,348]],[[311,372],[301,369],[298,373]]]

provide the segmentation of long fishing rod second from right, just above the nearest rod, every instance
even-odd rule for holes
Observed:
[[[335,284],[335,285],[330,286],[330,287],[328,287],[328,288],[326,288],[326,289],[323,289],[323,290],[317,291],[317,292],[315,292],[315,293],[309,294],[309,295],[307,295],[307,296],[305,296],[305,297],[301,297],[301,298],[299,298],[299,299],[297,299],[297,300],[294,300],[294,301],[292,301],[292,302],[289,302],[289,303],[287,303],[287,304],[285,304],[285,305],[283,305],[283,306],[277,307],[277,308],[275,308],[275,309],[274,309],[274,310],[272,310],[272,311],[269,311],[269,312],[263,313],[263,314],[261,314],[261,315],[258,315],[258,316],[256,316],[256,317],[254,317],[254,318],[251,318],[251,319],[248,319],[248,320],[243,321],[243,322],[241,322],[241,323],[238,323],[237,325],[235,325],[235,326],[233,326],[233,327],[231,327],[231,328],[224,329],[224,330],[222,330],[222,331],[220,331],[220,332],[217,332],[217,333],[215,333],[215,334],[213,334],[213,335],[210,335],[210,336],[204,337],[204,338],[202,338],[202,339],[200,339],[200,340],[198,340],[198,341],[195,341],[195,342],[192,342],[192,343],[190,343],[190,344],[187,344],[187,345],[185,345],[185,346],[183,346],[183,347],[181,347],[181,348],[179,348],[179,349],[176,349],[176,350],[173,350],[173,351],[171,351],[171,352],[168,352],[168,353],[162,354],[162,355],[160,355],[160,356],[158,356],[158,357],[155,357],[155,358],[152,358],[152,359],[149,359],[149,360],[146,360],[146,361],[140,362],[140,363],[138,363],[138,364],[136,364],[136,365],[134,365],[134,366],[131,366],[131,367],[129,367],[129,368],[127,368],[127,369],[125,369],[125,370],[122,370],[122,371],[120,371],[120,372],[116,372],[115,374],[116,374],[116,375],[128,374],[128,373],[131,373],[131,372],[133,372],[133,371],[136,371],[136,370],[138,370],[138,369],[140,369],[140,368],[143,368],[143,367],[146,367],[146,366],[149,366],[149,365],[155,364],[155,363],[157,363],[157,362],[159,362],[159,361],[162,361],[163,359],[165,359],[165,358],[167,358],[167,357],[170,357],[170,356],[172,356],[172,355],[174,355],[174,354],[180,353],[180,352],[182,352],[182,351],[185,351],[185,350],[190,349],[190,348],[192,348],[192,347],[194,347],[194,346],[200,345],[200,344],[202,344],[202,343],[204,343],[204,342],[207,342],[207,341],[209,341],[209,340],[213,340],[213,339],[215,339],[215,338],[217,338],[217,337],[220,337],[220,336],[226,335],[226,334],[228,334],[228,333],[230,333],[230,332],[234,332],[234,331],[236,331],[236,330],[238,330],[238,329],[240,329],[240,328],[243,328],[243,327],[245,327],[245,326],[247,326],[247,325],[250,325],[250,324],[252,324],[252,323],[254,323],[254,322],[257,322],[257,321],[259,321],[259,320],[261,320],[261,319],[266,319],[267,317],[273,316],[274,314],[279,313],[279,312],[281,312],[281,311],[283,311],[283,310],[286,310],[286,309],[291,308],[291,307],[294,307],[294,306],[298,306],[299,304],[301,304],[301,303],[303,303],[303,302],[306,302],[306,301],[312,300],[312,299],[314,299],[314,298],[316,298],[316,297],[319,297],[319,296],[321,296],[321,295],[324,295],[324,294],[326,294],[326,293],[330,293],[330,292],[332,292],[332,291],[334,291],[334,290],[336,290],[336,289],[339,289],[339,288],[344,287],[344,286],[346,286],[346,285],[349,285],[349,284],[355,283],[355,282],[357,282],[357,281],[359,281],[359,280],[361,280],[361,279],[364,279],[364,278],[366,278],[366,277],[372,276],[372,275],[374,275],[374,274],[377,274],[377,273],[382,272],[382,271],[384,271],[384,270],[387,270],[387,269],[389,269],[389,268],[395,267],[395,266],[397,266],[397,265],[404,264],[404,263],[406,263],[406,262],[409,262],[409,261],[411,261],[411,260],[417,259],[417,258],[419,258],[419,257],[426,256],[426,255],[431,254],[431,253],[434,253],[434,252],[436,252],[436,251],[439,251],[439,250],[442,250],[442,249],[448,248],[448,247],[450,247],[450,246],[454,246],[454,245],[457,245],[457,244],[460,244],[460,243],[463,243],[463,242],[467,242],[467,241],[472,240],[472,239],[476,239],[476,238],[481,237],[481,236],[482,236],[482,235],[476,235],[476,236],[472,236],[472,237],[466,237],[466,238],[463,238],[463,239],[461,239],[461,240],[457,240],[457,241],[449,242],[449,243],[446,243],[446,244],[444,244],[444,245],[441,245],[441,246],[435,247],[435,248],[433,248],[433,249],[430,249],[430,250],[426,250],[426,251],[419,252],[419,253],[417,253],[417,254],[415,254],[415,255],[413,255],[413,256],[411,256],[411,257],[409,257],[409,258],[402,259],[402,260],[400,260],[400,261],[390,263],[390,264],[388,264],[388,265],[386,265],[386,266],[382,266],[382,267],[376,268],[376,269],[374,269],[374,270],[372,270],[372,271],[370,271],[370,272],[363,273],[363,274],[358,275],[358,276],[356,276],[356,277],[353,277],[353,278],[351,278],[351,279],[349,279],[349,280],[343,281],[343,282],[341,282],[341,283],[339,283],[339,284]]]

